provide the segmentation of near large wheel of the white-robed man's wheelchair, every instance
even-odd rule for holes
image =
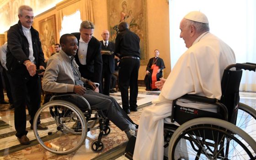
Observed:
[[[196,118],[173,133],[169,160],[255,160],[256,142],[232,123]]]

